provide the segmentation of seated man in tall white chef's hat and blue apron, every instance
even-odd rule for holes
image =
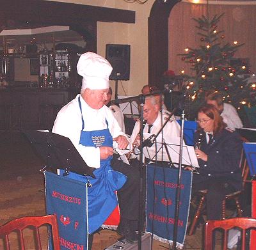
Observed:
[[[52,132],[68,137],[86,164],[95,168],[88,188],[89,233],[93,233],[116,207],[118,191],[120,224],[117,231],[131,243],[138,242],[134,222],[138,220],[140,174],[113,152],[125,151],[129,141],[104,102],[109,91],[109,62],[93,52],[81,55],[77,72],[83,76],[81,94],[58,113]],[[91,237],[92,238],[92,237]]]

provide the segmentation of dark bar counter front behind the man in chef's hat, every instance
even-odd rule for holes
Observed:
[[[58,111],[77,93],[77,88],[0,87],[0,130],[51,130]]]

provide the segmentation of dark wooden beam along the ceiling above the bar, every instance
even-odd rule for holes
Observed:
[[[135,23],[134,11],[84,4],[43,0],[0,0],[0,6],[0,15],[6,20],[63,26],[88,21]]]

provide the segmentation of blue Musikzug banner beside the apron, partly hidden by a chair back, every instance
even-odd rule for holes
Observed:
[[[61,250],[87,250],[87,185],[47,171],[44,175],[46,212],[57,215]],[[51,237],[48,249],[53,249]]]

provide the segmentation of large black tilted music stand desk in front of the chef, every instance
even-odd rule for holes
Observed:
[[[40,169],[64,169],[63,175],[68,175],[72,171],[79,175],[90,175],[93,178],[94,168],[90,168],[76,150],[68,137],[60,136],[52,132],[45,131],[22,131],[30,141],[33,149],[45,161],[45,167]]]

